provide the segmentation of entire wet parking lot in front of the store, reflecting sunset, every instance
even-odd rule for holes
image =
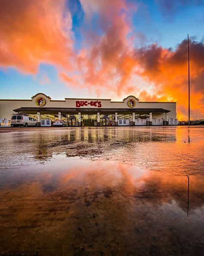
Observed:
[[[0,255],[204,255],[203,152],[204,126],[0,128]]]

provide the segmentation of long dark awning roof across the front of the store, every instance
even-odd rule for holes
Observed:
[[[15,112],[160,112],[167,113],[167,109],[91,109],[91,108],[34,108],[22,107],[13,109]]]

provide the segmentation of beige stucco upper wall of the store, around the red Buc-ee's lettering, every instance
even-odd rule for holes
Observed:
[[[15,100],[15,99],[0,99],[0,118],[6,118],[10,119],[13,112],[13,109],[18,109],[21,107],[39,107],[36,104],[36,99],[38,97],[43,97],[46,99],[46,104],[40,109],[43,110],[44,107],[55,107],[55,108],[76,108],[76,101],[100,101],[102,107],[101,108],[109,108],[109,109],[130,109],[131,111],[133,109],[150,109],[150,108],[160,108],[160,109],[167,109],[170,110],[169,112],[169,118],[176,118],[176,102],[139,102],[138,99],[136,99],[135,96],[128,96],[126,99],[124,99],[121,102],[111,102],[111,99],[67,99],[65,100],[52,100],[49,96],[46,96],[42,93],[39,93],[35,96],[33,96],[31,99],[28,100]],[[129,99],[133,99],[136,102],[136,105],[133,108],[130,108],[127,105],[127,102]],[[98,104],[98,103],[97,103]],[[98,108],[96,106],[83,106],[81,108],[89,108],[94,109]],[[165,118],[164,114],[152,114],[152,118]]]

